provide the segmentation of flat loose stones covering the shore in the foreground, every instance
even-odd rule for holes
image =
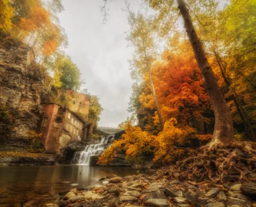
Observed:
[[[156,171],[154,175],[109,175],[100,179],[105,186],[74,188],[58,195],[58,206],[256,206],[256,182],[167,180]]]

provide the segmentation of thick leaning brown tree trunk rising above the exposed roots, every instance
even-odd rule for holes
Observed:
[[[205,89],[208,91],[212,101],[212,108],[215,116],[215,126],[211,144],[218,142],[228,144],[234,139],[230,110],[217,84],[217,80],[214,77],[212,68],[208,63],[208,59],[205,56],[201,41],[194,30],[188,8],[185,6],[185,2],[183,0],[177,0],[177,3],[184,20],[186,32],[194,50],[196,61],[203,74]]]

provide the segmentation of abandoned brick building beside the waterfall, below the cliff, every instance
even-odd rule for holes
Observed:
[[[42,144],[48,152],[57,152],[74,141],[85,140],[92,131],[93,124],[88,119],[90,96],[72,93],[68,107],[57,103],[42,103],[42,117],[39,132]]]

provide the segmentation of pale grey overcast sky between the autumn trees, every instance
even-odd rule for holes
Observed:
[[[138,0],[130,0],[131,10],[138,10]],[[103,23],[103,0],[62,0],[64,11],[58,16],[68,35],[66,54],[80,68],[91,95],[100,98],[104,110],[99,126],[118,127],[129,116],[132,80],[128,59],[134,48],[125,39],[129,25],[124,1],[109,1],[109,17]]]

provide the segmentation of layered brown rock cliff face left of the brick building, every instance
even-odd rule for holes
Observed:
[[[0,109],[13,118],[7,142],[28,141],[29,131],[37,128],[43,83],[44,72],[30,48],[0,34]]]

